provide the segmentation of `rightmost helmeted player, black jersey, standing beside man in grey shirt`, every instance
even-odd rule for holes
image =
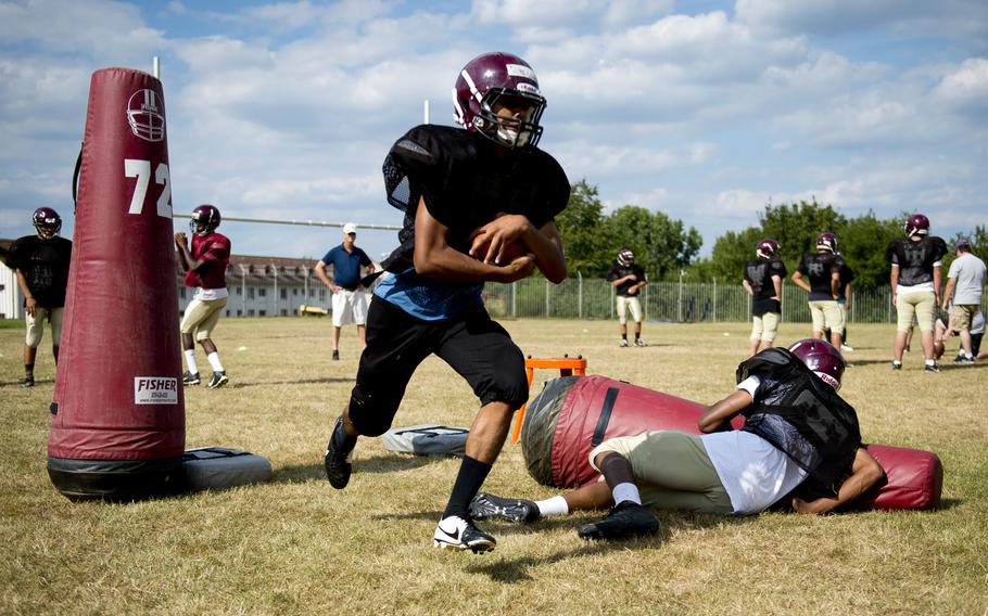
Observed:
[[[885,252],[891,266],[889,281],[898,323],[892,370],[902,369],[902,351],[912,328],[913,317],[920,324],[920,344],[927,372],[939,372],[934,358],[934,319],[940,304],[940,260],[947,255],[947,243],[929,234],[929,219],[914,214],[903,227],[905,238],[892,240]]]

